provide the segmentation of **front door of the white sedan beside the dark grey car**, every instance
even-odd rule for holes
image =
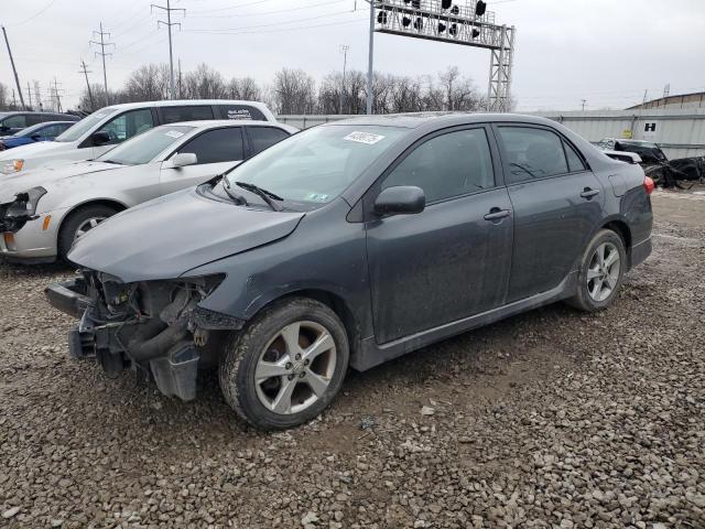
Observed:
[[[240,127],[206,130],[186,141],[162,163],[162,193],[202,184],[241,162],[243,152]],[[196,154],[197,162],[194,165],[174,168],[171,159],[177,153]]]

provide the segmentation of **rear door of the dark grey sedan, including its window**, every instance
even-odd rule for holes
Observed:
[[[604,191],[578,151],[552,129],[496,126],[514,244],[508,302],[560,285],[603,218]]]

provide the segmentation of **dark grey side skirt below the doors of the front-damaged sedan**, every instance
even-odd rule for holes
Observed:
[[[576,291],[576,288],[577,271],[573,271],[554,289],[541,294],[532,295],[524,300],[516,301],[508,305],[492,309],[491,311],[475,314],[452,323],[446,323],[438,327],[422,331],[421,333],[412,334],[382,345],[375,342],[375,336],[370,336],[369,338],[362,339],[358,353],[350,358],[350,367],[358,371],[370,369],[371,367],[405,355],[406,353],[411,353],[412,350],[420,349],[421,347],[425,347],[426,345],[435,342],[456,336],[477,327],[482,327],[521,312],[527,312],[532,309],[570,298]]]

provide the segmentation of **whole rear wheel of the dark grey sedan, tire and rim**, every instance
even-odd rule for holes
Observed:
[[[566,300],[585,312],[608,307],[619,291],[627,270],[627,250],[621,237],[611,229],[600,229],[583,255],[576,294]]]

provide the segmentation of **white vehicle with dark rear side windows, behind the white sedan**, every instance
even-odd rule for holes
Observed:
[[[118,143],[159,125],[205,119],[252,119],[276,122],[267,105],[240,100],[178,100],[112,105],[93,112],[53,142],[34,143],[0,152],[2,174],[93,160]]]

